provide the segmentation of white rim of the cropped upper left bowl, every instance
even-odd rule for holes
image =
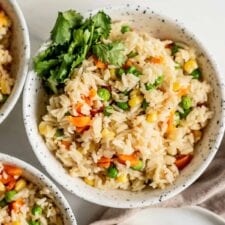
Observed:
[[[16,15],[18,16],[18,20],[22,28],[21,29],[22,39],[24,41],[24,45],[26,46],[26,48],[24,49],[24,56],[23,56],[25,59],[24,63],[20,65],[20,68],[22,68],[20,71],[21,76],[19,77],[19,79],[16,78],[15,84],[13,86],[11,94],[9,95],[9,98],[0,108],[0,124],[9,116],[9,114],[15,107],[20,97],[20,94],[23,90],[23,86],[26,80],[29,59],[30,59],[30,37],[29,37],[29,31],[28,31],[27,23],[23,15],[23,12],[20,9],[20,6],[17,3],[17,1],[7,0],[7,4],[11,5],[14,13],[16,13]]]

